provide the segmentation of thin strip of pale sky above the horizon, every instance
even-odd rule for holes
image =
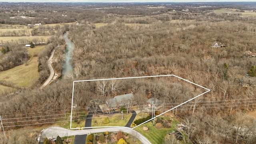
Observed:
[[[256,0],[0,0],[0,2],[256,2]]]

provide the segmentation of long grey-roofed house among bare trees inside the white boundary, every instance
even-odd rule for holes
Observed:
[[[133,94],[123,94],[120,96],[115,96],[114,98],[110,98],[106,100],[106,104],[109,108],[124,106],[125,102],[132,101],[134,99]]]

